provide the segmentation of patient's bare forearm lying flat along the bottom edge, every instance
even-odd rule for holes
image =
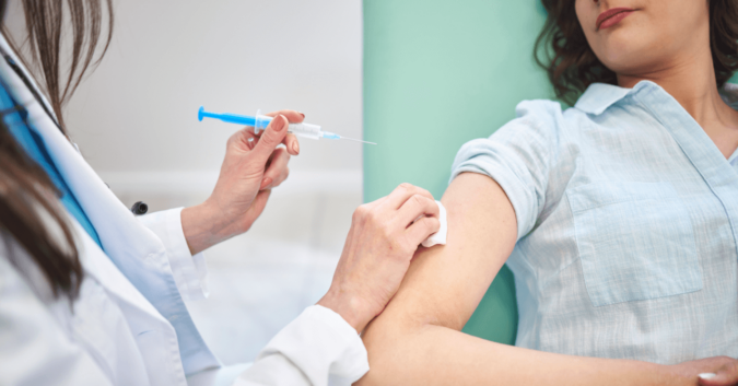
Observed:
[[[368,331],[360,385],[695,385],[668,366],[495,343],[431,324]]]

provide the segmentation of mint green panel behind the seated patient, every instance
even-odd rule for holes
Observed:
[[[465,142],[489,137],[523,100],[550,98],[532,47],[538,0],[365,0],[364,200],[400,183],[440,198]],[[494,237],[494,235],[490,235]],[[512,343],[514,279],[505,267],[465,331]]]

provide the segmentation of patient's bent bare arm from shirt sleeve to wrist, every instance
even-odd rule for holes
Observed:
[[[571,356],[460,332],[512,253],[515,212],[502,188],[473,173],[443,197],[446,246],[419,250],[400,290],[365,330],[361,385],[695,385],[652,363]]]

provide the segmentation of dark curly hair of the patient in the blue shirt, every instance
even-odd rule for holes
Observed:
[[[617,84],[616,73],[589,48],[576,17],[576,0],[541,0],[548,11],[535,57],[557,97],[573,105],[591,83]],[[738,70],[738,0],[710,1],[710,45],[718,87]]]

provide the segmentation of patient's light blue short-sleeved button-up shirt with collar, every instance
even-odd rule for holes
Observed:
[[[516,344],[665,364],[738,356],[738,152],[726,160],[647,81],[516,113],[466,143],[452,174],[491,176],[515,209]]]

